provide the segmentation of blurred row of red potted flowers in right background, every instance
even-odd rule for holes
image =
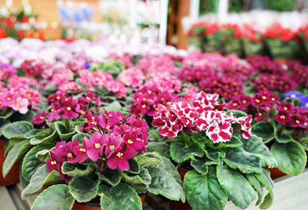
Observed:
[[[202,51],[238,56],[270,55],[277,59],[303,59],[308,51],[307,27],[297,31],[275,23],[264,31],[253,25],[200,22],[187,32],[188,41]]]

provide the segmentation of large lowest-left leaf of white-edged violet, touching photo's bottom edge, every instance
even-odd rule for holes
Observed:
[[[213,166],[208,168],[205,176],[196,170],[188,171],[184,178],[184,190],[194,210],[223,210],[228,201]]]

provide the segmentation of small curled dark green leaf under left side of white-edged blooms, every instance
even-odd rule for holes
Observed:
[[[174,143],[171,144],[170,155],[172,160],[175,162],[183,163],[184,161],[189,160],[193,155],[202,158],[204,152],[201,145],[196,142],[189,144],[186,150],[183,149],[183,145],[181,143]]]

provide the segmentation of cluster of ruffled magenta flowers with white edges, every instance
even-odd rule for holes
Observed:
[[[177,101],[169,107],[159,104],[152,126],[159,127],[159,133],[168,138],[176,137],[181,130],[186,133],[205,131],[214,143],[218,143],[230,141],[232,124],[239,124],[242,136],[250,138],[252,116],[226,115],[226,104],[220,103],[218,97],[218,94],[201,91],[192,103]]]

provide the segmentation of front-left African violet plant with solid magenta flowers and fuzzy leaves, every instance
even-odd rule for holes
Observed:
[[[54,185],[31,209],[71,209],[75,201],[96,201],[102,209],[142,209],[139,195],[147,191],[185,201],[176,167],[158,153],[146,152],[144,119],[105,111],[89,120],[87,129],[89,133],[79,132],[45,153],[46,164],[33,174],[22,197],[44,184]]]

